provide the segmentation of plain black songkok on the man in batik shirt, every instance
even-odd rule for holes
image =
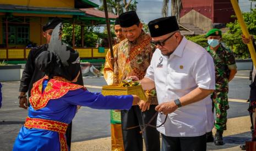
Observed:
[[[119,16],[120,26],[121,27],[130,27],[137,25],[140,20],[135,11],[127,11]]]

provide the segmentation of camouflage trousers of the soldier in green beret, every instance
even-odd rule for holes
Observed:
[[[215,90],[211,95],[211,99],[213,100],[213,111],[215,108],[216,112],[216,122],[214,127],[216,130],[224,131],[227,129],[227,109],[228,100],[227,100],[228,91],[219,91]]]

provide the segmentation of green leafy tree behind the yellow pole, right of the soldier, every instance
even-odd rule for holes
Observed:
[[[235,16],[232,17],[235,18]],[[256,9],[252,9],[252,13],[243,13],[243,18],[249,33],[256,35]],[[222,41],[228,48],[233,50],[237,58],[248,58],[248,48],[247,45],[242,43],[242,30],[238,21],[228,23],[227,27],[230,28],[230,30],[222,36]]]

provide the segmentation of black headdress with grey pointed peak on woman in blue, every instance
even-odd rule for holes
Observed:
[[[43,51],[36,58],[36,66],[50,78],[61,76],[67,80],[73,80],[80,71],[80,59],[77,51],[67,48],[59,38],[62,23],[59,23],[52,31],[48,50]]]

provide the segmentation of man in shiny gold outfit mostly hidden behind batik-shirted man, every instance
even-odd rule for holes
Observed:
[[[114,26],[115,34],[117,37],[117,42],[121,42],[125,37],[123,36],[122,29],[119,23],[119,19],[116,18]],[[114,45],[113,53],[117,53],[118,44]],[[104,67],[104,78],[107,82],[107,85],[113,84],[113,62],[115,59],[111,58],[110,50],[108,50],[106,55],[106,62]],[[122,151],[123,148],[123,135],[122,135],[122,125],[121,125],[121,112],[111,110],[111,150],[112,151]]]

